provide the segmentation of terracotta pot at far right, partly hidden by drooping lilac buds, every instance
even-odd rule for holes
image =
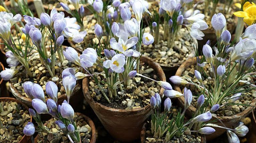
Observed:
[[[194,58],[190,58],[187,61],[185,61],[177,70],[176,75],[177,76],[182,76],[183,72],[186,70],[186,68],[190,65],[196,65],[196,57]],[[178,92],[182,92],[180,86],[175,85],[175,90]],[[184,108],[184,104],[185,104],[185,99],[184,97],[179,97],[178,98],[178,102],[180,104],[180,106],[182,108]],[[252,100],[252,103],[250,105],[255,106],[256,104],[256,99]],[[218,118],[226,125],[226,127],[228,128],[232,128],[234,125],[237,124],[238,121],[240,121],[243,117],[246,117],[250,114],[250,112],[254,109],[255,107],[247,107],[244,111],[232,115],[232,116],[221,116]],[[190,106],[187,110],[186,110],[186,114],[190,117],[193,116],[193,114],[195,113],[196,108],[194,106]],[[215,120],[215,119],[214,119]],[[222,125],[219,121],[214,122],[215,124],[219,124]],[[221,128],[215,128],[215,133],[211,134],[211,135],[207,135],[207,141],[212,140],[217,138],[218,136],[222,135],[226,130],[225,129],[221,129]]]

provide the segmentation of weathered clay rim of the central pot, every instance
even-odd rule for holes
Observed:
[[[158,76],[161,76],[160,73],[163,73],[162,77],[159,77],[160,80],[166,81],[166,77],[165,77],[164,71],[163,71],[163,69],[161,68],[161,66],[158,63],[153,61],[150,57],[147,57],[147,56],[144,56],[144,55],[142,55],[141,58],[145,58],[146,60],[154,63],[158,67],[157,69],[154,69],[154,70],[158,71],[157,72]],[[135,109],[116,109],[116,108],[111,108],[111,107],[104,106],[104,105],[102,105],[102,104],[100,104],[100,103],[98,103],[98,102],[93,100],[93,98],[88,93],[88,91],[89,91],[88,87],[89,87],[89,80],[88,80],[88,78],[84,78],[83,81],[82,81],[82,89],[83,89],[84,97],[88,98],[88,100],[91,102],[91,104],[94,104],[94,105],[96,105],[98,107],[101,107],[101,108],[103,108],[106,111],[111,111],[111,112],[116,112],[116,113],[123,112],[123,113],[126,113],[128,116],[129,116],[130,113],[132,113],[131,115],[134,116],[135,114],[141,114],[143,110],[147,111],[147,110],[151,110],[152,109],[150,105],[147,105],[145,107],[135,108]],[[161,87],[159,94],[163,95],[163,92],[164,92],[164,88]]]

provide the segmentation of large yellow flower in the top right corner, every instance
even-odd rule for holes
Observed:
[[[248,25],[252,25],[256,22],[256,5],[255,3],[246,2],[243,5],[243,11],[234,12],[237,17],[243,17],[244,22]]]

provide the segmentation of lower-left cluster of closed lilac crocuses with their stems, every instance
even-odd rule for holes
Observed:
[[[25,82],[23,88],[25,93],[32,99],[32,108],[29,108],[30,115],[37,122],[37,131],[49,133],[49,130],[45,128],[41,121],[40,114],[50,114],[56,118],[55,124],[58,125],[61,132],[65,133],[71,142],[79,142],[80,135],[74,122],[74,109],[69,104],[69,97],[76,85],[76,79],[74,71],[71,68],[67,68],[62,72],[62,83],[66,90],[67,101],[64,100],[61,105],[58,105],[58,87],[52,82],[48,81],[46,84],[46,94],[49,99],[45,101],[44,92],[40,85]],[[27,136],[33,135],[35,127],[33,123],[29,122],[23,129],[23,133]]]

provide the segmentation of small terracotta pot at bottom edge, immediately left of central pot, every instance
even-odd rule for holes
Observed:
[[[96,136],[96,128],[95,128],[95,125],[94,125],[93,121],[92,121],[89,117],[85,116],[85,115],[82,114],[82,113],[76,112],[75,114],[76,114],[77,116],[82,116],[82,117],[85,119],[86,123],[91,127],[90,143],[95,143],[97,136]],[[48,124],[48,122],[45,122],[45,123],[44,123],[45,126],[47,126],[47,124]],[[37,136],[35,137],[35,139],[34,139],[34,142],[35,142],[35,143],[37,143],[37,138],[38,138],[38,135],[37,135]],[[80,140],[80,143],[81,143],[81,140]]]

